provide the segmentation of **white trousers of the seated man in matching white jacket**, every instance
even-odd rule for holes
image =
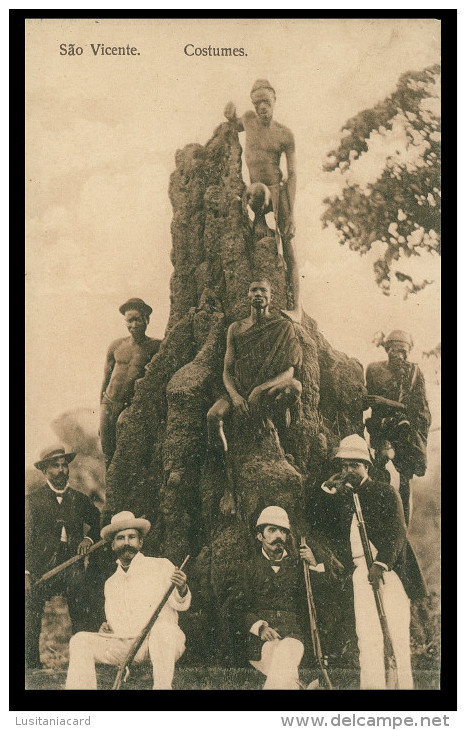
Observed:
[[[127,655],[134,639],[80,631],[70,640],[70,663],[66,689],[97,689],[96,662],[117,666]],[[157,622],[139,649],[134,662],[149,657],[154,689],[171,689],[175,662],[185,650],[185,635],[177,624]]]

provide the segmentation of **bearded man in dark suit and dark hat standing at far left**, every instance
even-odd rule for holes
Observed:
[[[75,453],[62,446],[42,451],[35,467],[47,483],[26,498],[26,666],[41,667],[39,637],[45,602],[62,595],[68,602],[72,631],[97,628],[97,576],[79,560],[64,570],[49,571],[84,556],[99,539],[100,513],[89,497],[68,486]],[[44,576],[44,574],[47,574]],[[92,576],[92,577],[91,577]],[[47,578],[47,579],[46,579]],[[95,626],[97,621],[97,626]]]

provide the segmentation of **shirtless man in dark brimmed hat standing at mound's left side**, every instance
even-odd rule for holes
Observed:
[[[133,398],[134,383],[144,377],[145,367],[160,347],[160,340],[147,337],[146,329],[152,308],[137,297],[120,307],[129,337],[114,340],[105,360],[101,389],[100,441],[108,469],[116,448],[116,426],[121,412]]]

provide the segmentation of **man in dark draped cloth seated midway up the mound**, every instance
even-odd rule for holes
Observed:
[[[209,442],[219,436],[225,453],[228,444],[223,422],[232,407],[243,418],[266,418],[277,408],[287,418],[288,407],[302,391],[301,346],[290,320],[270,314],[269,282],[251,282],[248,297],[249,317],[233,322],[228,329],[223,369],[227,394],[207,413]],[[227,491],[222,499],[225,513],[234,510],[231,486]]]

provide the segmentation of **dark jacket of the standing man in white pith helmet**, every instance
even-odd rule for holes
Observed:
[[[400,577],[412,600],[426,595],[421,570],[406,539],[406,523],[398,493],[385,482],[365,481],[358,488],[369,540],[377,548],[377,560]],[[311,496],[311,526],[329,541],[336,557],[354,569],[350,529],[354,508],[351,495],[328,494],[320,486]]]

